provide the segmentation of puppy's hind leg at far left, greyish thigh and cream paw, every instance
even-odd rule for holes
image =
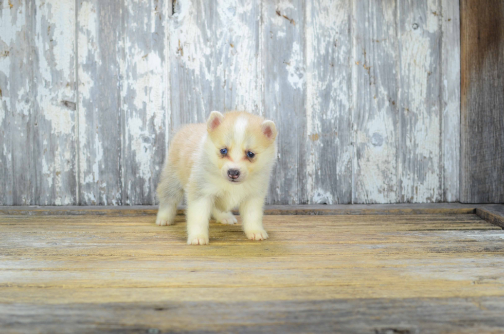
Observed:
[[[173,225],[177,214],[177,206],[184,196],[184,189],[175,173],[165,168],[161,174],[161,181],[157,186],[159,209],[157,211],[156,225]]]

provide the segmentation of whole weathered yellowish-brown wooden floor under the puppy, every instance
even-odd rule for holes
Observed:
[[[464,212],[461,210],[460,212]],[[0,332],[504,332],[504,231],[473,213],[0,214]]]

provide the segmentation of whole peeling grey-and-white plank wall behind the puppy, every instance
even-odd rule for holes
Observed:
[[[457,0],[0,0],[0,205],[153,204],[169,138],[276,121],[268,203],[459,200]]]

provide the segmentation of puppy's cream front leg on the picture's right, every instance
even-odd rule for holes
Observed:
[[[240,204],[243,231],[250,240],[266,240],[268,234],[262,227],[262,206],[264,198],[255,197]]]

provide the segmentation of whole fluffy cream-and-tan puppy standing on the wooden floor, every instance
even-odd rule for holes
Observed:
[[[208,244],[210,215],[236,223],[230,210],[237,206],[247,238],[267,239],[262,215],[276,137],[273,121],[246,112],[212,111],[206,124],[183,127],[170,144],[157,187],[156,224],[173,224],[185,192],[188,244]]]

